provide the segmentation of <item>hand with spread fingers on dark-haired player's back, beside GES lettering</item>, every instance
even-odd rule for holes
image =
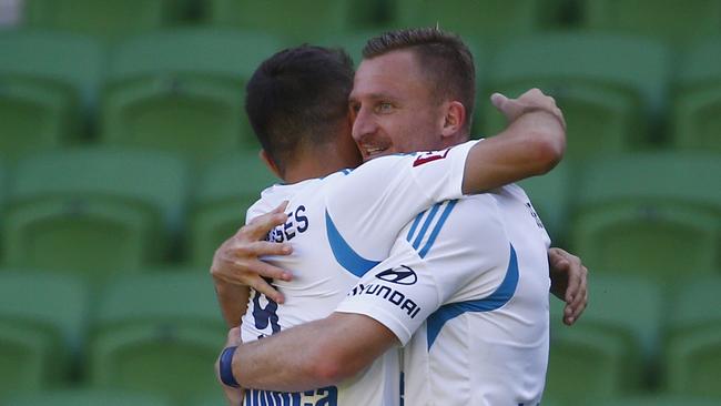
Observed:
[[[272,212],[253,219],[215,251],[211,275],[216,282],[250,286],[273,301],[283,303],[283,295],[263,277],[290,281],[291,273],[267,264],[258,257],[288,255],[293,252],[291,244],[262,241],[273,227],[287,221],[287,215],[283,212],[286,206],[287,202],[283,202]]]

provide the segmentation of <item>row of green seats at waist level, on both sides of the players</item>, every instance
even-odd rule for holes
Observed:
[[[624,273],[591,275],[592,305],[562,326],[551,300],[546,398],[637,393],[721,398],[721,276],[673,292]],[[73,383],[194,399],[217,388],[212,366],[225,343],[205,272],[124,275],[91,291],[81,280],[0,273],[0,400]],[[570,403],[572,404],[572,403]]]

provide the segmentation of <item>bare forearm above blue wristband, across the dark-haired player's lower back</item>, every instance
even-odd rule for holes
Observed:
[[[238,346],[233,374],[246,388],[309,390],[355,375],[394,343],[369,317],[334,313]]]

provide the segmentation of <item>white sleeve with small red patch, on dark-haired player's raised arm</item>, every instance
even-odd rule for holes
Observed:
[[[326,201],[328,217],[362,253],[369,237],[375,238],[374,246],[387,250],[398,230],[418,212],[463,196],[466,156],[477,142],[366,162],[335,182]]]

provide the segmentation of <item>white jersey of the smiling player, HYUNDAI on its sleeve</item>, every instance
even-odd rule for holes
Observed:
[[[408,224],[337,311],[377,319],[405,345],[406,405],[536,406],[549,244],[516,185],[446,202]]]

